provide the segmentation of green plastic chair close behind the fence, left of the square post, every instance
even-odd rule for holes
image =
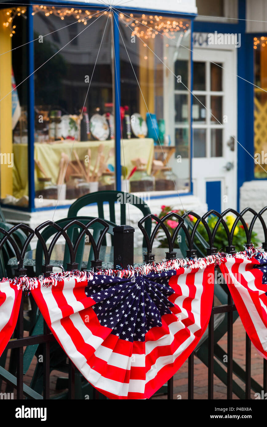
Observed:
[[[88,222],[90,222],[94,217],[91,216],[77,216],[75,218],[64,218],[60,219],[59,221],[56,221],[56,224],[59,225],[59,227],[64,227],[69,222],[71,222],[72,219],[77,219],[77,221],[80,221],[82,224],[86,225]],[[109,225],[109,229],[107,231],[108,234],[113,236],[113,227],[116,227],[116,224],[110,221],[106,221]],[[99,222],[95,222],[91,227],[90,231],[92,230],[92,236],[95,239],[95,241],[98,241],[98,238],[101,234],[101,231],[103,230],[103,225]],[[73,225],[68,229],[68,237],[70,237],[71,243],[74,244],[76,241],[76,235],[79,233],[80,227],[79,225]],[[42,237],[44,238],[45,242],[52,237],[57,230],[52,227],[48,226],[42,231]],[[85,246],[85,239],[83,239],[78,247],[77,255],[76,255],[76,262],[78,263],[78,269],[81,268],[82,260],[83,260],[83,252],[84,252],[84,246]],[[41,274],[42,264],[43,264],[43,248],[41,243],[38,241],[36,246],[36,273],[37,275]],[[91,269],[90,261],[93,259],[93,252],[90,251],[89,254],[89,260],[87,263],[87,268]],[[67,244],[65,245],[65,254],[64,254],[64,260],[63,260],[63,268],[66,269],[67,263],[70,261],[69,257],[69,251]],[[34,326],[31,335],[38,335],[43,333],[43,317],[42,314],[39,312],[37,319],[36,319],[36,325]],[[38,350],[39,345],[30,345],[27,346],[27,348],[24,351],[24,365],[23,365],[23,371],[24,374],[28,371],[30,364],[33,360],[33,357],[35,354],[42,354],[42,347],[40,347],[40,351]],[[57,342],[50,343],[50,372],[56,369],[57,371],[61,372],[68,372],[68,365],[66,363],[66,354],[65,351],[62,350],[60,345]],[[60,387],[62,388],[68,388],[68,380],[66,378],[59,378],[58,383],[62,384]],[[35,372],[33,374],[33,379],[30,384],[30,388],[34,390],[34,392],[37,392],[39,394],[42,393],[42,387],[43,387],[43,363],[37,362]],[[84,398],[85,394],[88,394],[90,398],[92,398],[93,388],[92,386],[87,382],[87,380],[80,374],[77,373],[75,375],[75,396],[76,398]],[[83,396],[83,397],[81,397]],[[55,397],[56,399],[64,399],[67,398],[67,393],[60,394]]]

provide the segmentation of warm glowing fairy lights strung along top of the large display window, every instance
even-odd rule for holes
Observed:
[[[15,34],[16,26],[13,25],[14,18],[17,16],[23,16],[23,15],[24,17],[26,17],[26,11],[27,11],[26,7],[13,7],[6,11],[6,22],[3,23],[3,26],[10,29],[10,37],[12,37],[13,34]],[[74,7],[71,7],[70,9],[68,9],[68,8],[60,8],[56,6],[33,5],[32,15],[36,15],[37,13],[42,13],[47,17],[50,15],[54,15],[61,20],[64,20],[68,17],[72,17],[76,19],[77,22],[83,23],[84,25],[86,25],[88,20],[92,18],[92,15],[94,16],[94,18],[98,18],[98,16],[100,16],[100,14],[103,13],[103,11],[101,12],[100,10],[97,10],[92,12],[90,10],[78,9]],[[108,15],[108,14],[111,17],[110,12],[107,12],[107,11],[104,12],[104,15]],[[133,33],[132,33],[133,36],[136,35],[137,37],[144,37],[145,39],[155,38],[158,32],[164,33],[164,35],[166,35],[166,37],[168,37],[169,39],[173,39],[175,38],[176,32],[181,32],[181,33],[187,32],[189,27],[189,23],[187,21],[185,22],[181,19],[180,20],[170,19],[170,18],[159,16],[159,15],[142,14],[142,18],[140,18],[139,16],[138,18],[136,17],[138,20],[142,19],[140,21],[136,20],[133,14],[129,15],[129,17],[126,17],[123,13],[121,13],[120,17],[124,18],[127,21],[128,25],[133,27]],[[140,29],[139,28],[140,23],[148,27],[144,27],[144,29]]]

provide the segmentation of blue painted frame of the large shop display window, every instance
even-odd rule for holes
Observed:
[[[20,3],[20,1],[15,0],[14,3]],[[57,5],[62,4],[62,1],[58,0],[45,0],[42,2],[43,5],[50,5],[51,3]],[[9,3],[1,3],[0,9],[6,8]],[[27,41],[32,41],[34,38],[34,32],[33,32],[33,5],[34,4],[40,4],[40,1],[33,0],[31,2],[31,5],[27,7]],[[65,6],[73,6],[73,2],[71,1],[65,1]],[[89,9],[92,6],[98,6],[92,3],[82,3],[82,2],[75,2],[75,6]],[[107,9],[104,5],[99,5],[97,7],[99,11]],[[134,8],[131,9],[131,7],[118,7],[118,9],[123,13],[131,11],[132,13],[142,13],[142,12],[150,12],[149,9],[141,9],[141,8]],[[160,13],[162,16],[169,16],[169,15],[176,15],[181,18],[187,18],[191,21],[191,49],[193,47],[193,21],[196,18],[196,14],[190,14],[190,13],[179,13],[179,12],[173,12],[173,11],[161,11],[161,10],[155,10],[153,12]],[[114,67],[116,63],[116,70],[117,70],[117,77],[118,82],[120,82],[120,55],[119,55],[119,29],[116,25],[116,22],[119,24],[119,17],[117,15],[114,15]],[[28,75],[30,76],[27,79],[27,94],[28,94],[28,188],[29,188],[29,205],[27,208],[17,207],[13,205],[3,205],[1,206],[3,208],[7,209],[13,209],[14,211],[24,211],[24,212],[39,212],[39,211],[48,211],[53,209],[53,207],[44,207],[44,208],[35,208],[34,205],[34,199],[35,199],[35,182],[34,182],[34,106],[35,106],[35,93],[34,93],[34,44],[28,43],[27,45],[27,69],[28,69]],[[190,87],[191,91],[193,90],[193,57],[191,55],[190,60]],[[118,99],[118,92],[119,91],[119,99]],[[116,120],[116,189],[118,191],[121,190],[121,124],[120,124],[120,94],[121,94],[121,88],[120,83],[117,85],[116,82],[116,76],[115,76],[115,120]],[[188,193],[182,193],[181,197],[186,196],[192,196],[193,195],[193,181],[192,181],[192,155],[193,155],[193,135],[192,135],[192,97],[191,94],[191,120],[190,120],[190,191]],[[165,194],[165,195],[159,195],[159,196],[152,196],[151,199],[164,199],[168,197],[177,197],[177,194]],[[61,205],[58,206],[58,209],[68,208],[70,205]]]

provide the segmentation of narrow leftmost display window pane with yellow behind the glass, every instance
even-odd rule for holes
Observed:
[[[1,202],[24,208],[29,205],[26,12],[26,7],[0,11]]]

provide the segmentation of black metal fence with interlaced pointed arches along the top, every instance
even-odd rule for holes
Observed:
[[[142,231],[144,236],[147,252],[144,254],[144,262],[151,263],[155,260],[155,255],[153,254],[153,244],[157,236],[158,231],[163,231],[166,236],[166,241],[168,244],[168,252],[166,252],[166,259],[174,259],[177,256],[175,252],[175,246],[177,247],[178,235],[181,235],[181,232],[184,233],[184,240],[186,241],[187,250],[186,256],[189,258],[197,257],[198,252],[196,249],[195,240],[198,238],[198,227],[202,223],[202,227],[205,227],[207,233],[207,247],[206,254],[211,255],[217,252],[217,248],[214,247],[214,240],[218,229],[223,226],[225,231],[225,236],[228,244],[225,246],[224,251],[227,253],[234,254],[235,246],[233,245],[234,231],[235,228],[241,223],[246,235],[246,241],[243,242],[244,246],[249,247],[251,245],[252,231],[255,226],[255,222],[258,219],[263,228],[264,242],[262,243],[262,248],[267,250],[267,227],[263,219],[263,214],[267,211],[267,207],[263,208],[259,213],[255,212],[251,208],[246,208],[241,213],[234,211],[233,209],[227,209],[223,213],[218,213],[216,211],[209,211],[205,213],[202,217],[197,213],[192,211],[186,212],[183,215],[178,215],[177,213],[170,212],[163,218],[158,218],[153,214],[149,214],[142,218],[138,227]],[[252,219],[250,220],[250,225],[246,224],[244,215],[250,213]],[[228,228],[227,222],[225,221],[225,216],[228,214],[233,214],[236,219],[231,227]],[[195,218],[194,221],[189,220],[189,218]],[[208,225],[208,217],[213,216],[217,218],[214,228],[211,230]],[[169,232],[166,227],[166,223],[169,219],[175,218],[177,221],[177,226],[173,229],[172,233]],[[145,231],[145,222],[153,220],[156,224],[154,230],[151,233],[151,236],[148,236]],[[90,229],[94,227],[95,224],[100,224],[103,229],[99,234],[98,240],[95,241]],[[76,226],[79,228],[79,233],[75,237],[75,241],[72,241],[68,230]],[[47,247],[47,243],[42,235],[47,227],[53,227],[55,230],[55,235]],[[15,275],[22,277],[26,275],[27,270],[24,268],[24,257],[27,251],[28,246],[30,245],[31,240],[36,235],[40,244],[42,245],[42,250],[44,254],[44,264],[42,266],[42,273],[45,277],[48,277],[51,272],[53,272],[53,266],[50,265],[51,254],[53,248],[58,242],[59,238],[65,239],[65,245],[68,247],[69,259],[70,261],[67,264],[67,269],[69,271],[77,269],[76,255],[78,247],[81,241],[88,237],[88,241],[91,244],[91,248],[94,254],[94,259],[92,260],[92,270],[101,268],[102,262],[99,259],[100,249],[105,243],[105,237],[107,231],[109,230],[110,225],[100,218],[95,218],[89,221],[87,224],[80,222],[79,219],[70,219],[67,225],[60,227],[56,222],[47,221],[39,225],[35,230],[24,224],[15,225],[9,231],[0,228],[0,234],[3,237],[0,239],[0,251],[5,248],[7,244],[12,247],[12,250],[15,253],[15,256],[18,260],[18,268],[15,270]],[[14,238],[18,230],[24,231],[26,237],[25,241],[22,244],[18,244]],[[120,266],[121,268],[127,268],[129,265],[134,264],[134,228],[128,225],[116,226],[113,228],[113,244],[114,244],[114,266]],[[219,248],[221,249],[221,248]],[[159,261],[159,260],[158,260]],[[220,347],[217,344],[218,336],[217,331],[214,330],[214,316],[225,314],[225,321],[227,322],[227,372],[225,384],[227,386],[227,398],[231,399],[233,392],[238,395],[240,398],[250,398],[251,390],[259,392],[261,394],[262,386],[256,383],[251,378],[251,342],[249,337],[246,335],[246,368],[243,370],[238,366],[233,360],[233,323],[234,315],[236,313],[236,308],[233,304],[230,293],[228,292],[227,287],[225,287],[225,292],[227,292],[227,301],[225,304],[214,306],[211,311],[211,319],[208,326],[208,338],[206,342],[206,348],[208,351],[208,399],[213,399],[214,397],[214,374],[217,372],[218,362],[217,360],[223,362],[223,354]],[[27,292],[25,292],[26,294]],[[47,325],[44,322],[44,333],[39,335],[32,335],[24,337],[24,306],[23,298],[21,301],[21,307],[18,316],[18,322],[14,333],[15,337],[12,338],[6,349],[12,349],[16,352],[16,374],[13,375],[10,372],[6,371],[3,367],[0,366],[0,380],[4,380],[7,383],[6,390],[12,390],[15,388],[17,390],[17,399],[30,398],[30,399],[49,399],[49,389],[50,389],[50,345],[55,341],[55,338],[50,333]],[[24,374],[23,374],[23,356],[24,356],[24,347],[29,345],[42,345],[43,346],[43,394],[35,392],[30,387],[24,384]],[[197,353],[197,351],[196,351]],[[198,354],[198,353],[197,353]],[[201,357],[200,357],[201,358]],[[214,371],[215,366],[215,371]],[[220,369],[218,372],[221,372]],[[234,381],[233,373],[237,375],[245,385],[245,390],[242,390]],[[216,373],[217,374],[217,373]],[[74,399],[77,398],[75,392],[75,377],[77,376],[77,370],[74,365],[69,360],[68,363],[68,398]],[[222,378],[224,374],[222,373]],[[233,390],[234,386],[234,390]],[[263,390],[264,393],[267,392],[267,360],[263,361]],[[173,399],[173,378],[168,381],[168,387],[166,390],[167,399]],[[99,398],[99,393],[94,391],[93,398]],[[188,358],[188,399],[194,398],[194,354],[191,354]]]

